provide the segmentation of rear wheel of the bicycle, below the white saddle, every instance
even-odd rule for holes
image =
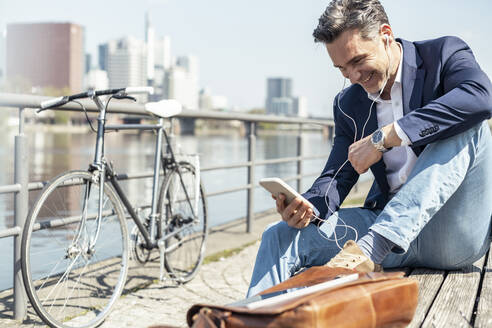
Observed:
[[[164,236],[172,234],[165,240],[166,270],[171,278],[181,283],[193,279],[205,255],[208,234],[207,204],[201,183],[198,202],[195,200],[196,178],[193,165],[179,162],[166,176],[159,197],[161,220],[165,223],[160,222],[160,231]],[[193,207],[196,204],[198,207],[195,209],[195,218]]]

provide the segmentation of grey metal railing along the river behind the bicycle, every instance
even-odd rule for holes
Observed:
[[[41,101],[49,99],[49,97],[33,96],[25,94],[8,94],[0,93],[0,110],[1,107],[13,107],[17,108],[19,112],[19,130],[18,135],[15,136],[15,154],[14,154],[14,184],[0,186],[0,194],[13,193],[14,194],[14,226],[11,228],[0,230],[0,238],[13,237],[14,238],[14,319],[23,320],[26,316],[27,309],[27,297],[25,295],[24,285],[22,281],[22,273],[20,267],[20,248],[21,248],[21,234],[26,220],[26,216],[29,209],[29,191],[42,189],[46,184],[43,182],[29,182],[29,159],[28,159],[28,142],[27,137],[24,134],[25,124],[25,109],[26,108],[38,108]],[[97,111],[95,104],[89,100],[81,101],[88,111]],[[56,110],[65,111],[81,111],[80,106],[77,104],[66,104]],[[148,116],[144,111],[142,104],[113,102],[108,106],[108,112],[129,114],[146,117]],[[202,172],[213,170],[225,170],[233,168],[247,168],[247,184],[241,187],[230,188],[213,193],[207,193],[206,197],[212,197],[242,190],[247,190],[247,213],[246,213],[246,232],[252,231],[252,224],[254,219],[254,189],[255,185],[255,167],[259,165],[267,164],[280,164],[297,162],[297,174],[293,177],[285,178],[286,181],[297,181],[297,189],[300,190],[302,178],[308,176],[315,176],[315,174],[304,174],[302,162],[304,160],[323,159],[327,157],[327,154],[303,156],[302,141],[303,127],[308,125],[318,125],[328,129],[328,135],[333,133],[333,121],[331,120],[313,120],[297,117],[277,117],[272,115],[251,115],[243,113],[231,113],[231,112],[213,112],[213,111],[191,111],[184,110],[176,118],[194,118],[194,119],[206,119],[206,120],[237,120],[244,122],[248,129],[248,161],[242,163],[234,163],[221,166],[205,167],[202,168]],[[276,123],[276,124],[294,124],[298,126],[299,133],[297,135],[297,156],[275,158],[268,160],[256,160],[256,130],[257,124],[260,122]],[[140,179],[151,177],[152,172],[139,172],[132,174],[119,174],[118,177],[122,180],[126,179]],[[5,267],[2,265],[2,267]]]

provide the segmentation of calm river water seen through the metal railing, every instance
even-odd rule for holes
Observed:
[[[13,184],[15,129],[4,129],[0,138],[0,186]],[[86,169],[94,156],[93,133],[26,133],[29,143],[29,181],[44,181],[74,169]],[[182,152],[198,153],[202,167],[227,165],[247,161],[247,138],[235,132],[224,135],[179,136]],[[136,173],[152,170],[155,141],[152,133],[109,133],[106,135],[106,157],[114,161],[116,172]],[[290,133],[259,133],[256,159],[296,156],[297,140]],[[319,132],[304,133],[304,155],[328,154],[330,142]],[[319,173],[325,159],[305,161],[304,173]],[[295,163],[257,166],[255,180],[263,177],[290,177],[296,174]],[[247,184],[247,169],[226,169],[201,174],[207,193]],[[315,177],[303,180],[303,190]],[[152,179],[130,180],[122,183],[134,204],[149,203]],[[31,192],[30,205],[39,192]],[[0,230],[13,226],[13,194],[0,195]],[[244,217],[246,191],[209,197],[210,226]],[[255,212],[273,207],[269,194],[262,188],[255,190]],[[0,239],[0,290],[10,288],[12,282],[13,238]]]

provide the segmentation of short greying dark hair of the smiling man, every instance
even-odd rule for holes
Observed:
[[[313,32],[315,42],[331,43],[345,31],[357,29],[370,39],[388,16],[378,0],[332,0]]]

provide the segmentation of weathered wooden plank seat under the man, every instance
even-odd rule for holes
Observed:
[[[413,269],[419,302],[409,327],[492,327],[492,252],[460,271]]]

